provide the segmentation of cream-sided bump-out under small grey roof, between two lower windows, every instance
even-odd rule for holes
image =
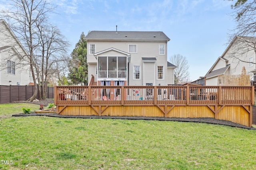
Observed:
[[[144,70],[143,70],[143,77],[144,77],[144,84],[143,86],[146,86],[146,83],[152,83],[153,86],[155,85],[155,63],[154,62],[144,62]]]

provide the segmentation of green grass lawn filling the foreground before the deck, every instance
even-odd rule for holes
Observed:
[[[0,128],[6,170],[256,169],[256,131],[224,125],[29,116]]]

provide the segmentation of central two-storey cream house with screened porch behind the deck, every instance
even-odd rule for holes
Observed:
[[[161,31],[91,31],[87,41],[88,82],[98,85],[174,84],[174,66],[167,61]]]

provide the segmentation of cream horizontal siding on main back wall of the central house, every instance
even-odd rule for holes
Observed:
[[[130,61],[130,69],[129,69],[129,80],[130,80],[130,86],[132,85],[143,85],[143,61],[142,57],[155,57],[156,58],[156,65],[162,65],[164,66],[164,81],[160,81],[161,85],[167,85],[167,43],[166,41],[161,42],[151,42],[151,41],[90,41],[87,42],[87,47],[90,47],[90,44],[96,45],[96,53],[100,51],[104,51],[106,49],[115,48],[120,51],[124,51],[126,53],[129,53],[128,48],[129,45],[137,45],[137,53],[130,53],[131,54],[131,61]],[[165,54],[159,55],[159,45],[164,44],[165,45]],[[88,55],[88,63],[97,63],[96,58],[94,55],[90,54],[90,49],[87,50]],[[111,53],[111,51],[110,51]],[[140,80],[134,80],[133,79],[133,66],[134,65],[140,65],[141,70],[141,77]],[[157,70],[156,70],[157,71]],[[156,76],[155,76],[156,78]],[[157,81],[157,80],[156,80]]]

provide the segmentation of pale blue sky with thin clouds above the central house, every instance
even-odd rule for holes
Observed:
[[[1,2],[3,2],[1,0]],[[169,38],[168,60],[186,57],[190,80],[204,76],[234,29],[228,0],[54,0],[50,21],[70,41],[69,54],[88,31],[163,31]]]

